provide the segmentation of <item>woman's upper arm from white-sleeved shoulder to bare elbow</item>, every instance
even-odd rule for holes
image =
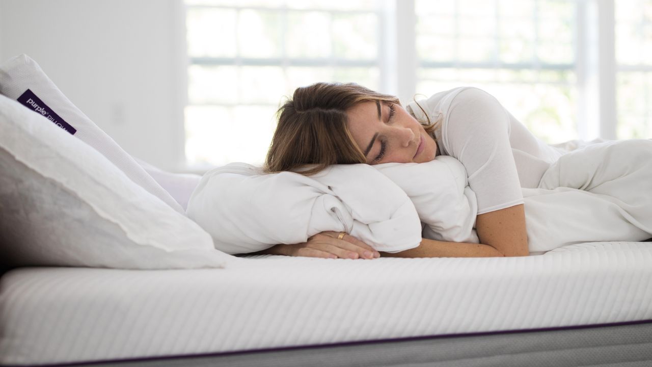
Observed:
[[[477,88],[460,91],[447,113],[441,143],[466,168],[482,213],[475,221],[480,242],[505,256],[528,255],[523,195],[509,140],[511,115]]]

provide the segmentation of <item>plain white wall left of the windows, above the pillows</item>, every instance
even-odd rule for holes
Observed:
[[[35,59],[132,155],[182,167],[185,49],[180,0],[2,0],[0,62]]]

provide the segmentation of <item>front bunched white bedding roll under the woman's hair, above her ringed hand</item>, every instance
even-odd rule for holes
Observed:
[[[348,232],[379,251],[421,242],[421,223],[408,195],[369,165],[334,165],[306,177],[263,174],[259,167],[231,163],[201,178],[186,214],[213,236],[217,249],[230,254],[299,244],[323,231]]]

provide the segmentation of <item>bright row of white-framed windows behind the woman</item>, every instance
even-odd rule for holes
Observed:
[[[195,167],[261,163],[282,96],[318,81],[404,102],[477,86],[549,143],[652,137],[652,0],[185,4]]]

